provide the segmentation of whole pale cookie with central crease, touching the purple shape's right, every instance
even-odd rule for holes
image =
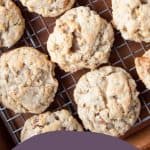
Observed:
[[[122,136],[140,113],[135,81],[117,67],[106,66],[83,75],[74,98],[84,127],[96,133]]]

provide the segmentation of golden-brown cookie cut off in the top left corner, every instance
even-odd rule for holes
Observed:
[[[23,35],[25,20],[12,0],[0,0],[0,48],[13,46]]]

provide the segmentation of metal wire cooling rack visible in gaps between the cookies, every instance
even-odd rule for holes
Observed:
[[[22,7],[19,0],[14,0],[21,8],[24,18],[26,19],[26,30],[23,38],[15,47],[19,46],[33,46],[40,51],[47,53],[46,42],[48,35],[53,31],[55,25],[54,18],[42,18],[41,16],[29,13],[26,8]],[[111,0],[77,0],[75,6],[86,5],[91,9],[97,11],[100,16],[108,21],[111,21]],[[130,133],[137,132],[144,125],[150,124],[150,91],[145,88],[143,83],[139,80],[135,66],[134,58],[141,56],[147,49],[150,49],[150,44],[134,43],[122,39],[120,33],[116,31],[116,41],[112,48],[110,57],[110,64],[113,66],[120,66],[126,69],[132,77],[136,80],[137,89],[140,92],[140,100],[142,104],[141,115]],[[0,50],[3,53],[5,50]],[[57,92],[55,102],[49,110],[58,110],[66,108],[77,117],[76,106],[73,102],[73,89],[82,74],[86,70],[78,71],[76,73],[65,73],[58,67],[56,68],[56,77],[59,80],[60,86]],[[30,117],[27,114],[14,114],[5,107],[0,106],[0,116],[2,117],[14,143],[20,142],[20,131],[22,130],[25,120]]]

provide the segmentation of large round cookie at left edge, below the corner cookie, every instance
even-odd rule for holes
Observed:
[[[30,47],[0,58],[0,101],[15,113],[41,113],[54,100],[58,82],[47,55]]]

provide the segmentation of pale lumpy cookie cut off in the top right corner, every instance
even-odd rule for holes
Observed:
[[[126,40],[150,42],[150,1],[112,0],[113,23]]]

